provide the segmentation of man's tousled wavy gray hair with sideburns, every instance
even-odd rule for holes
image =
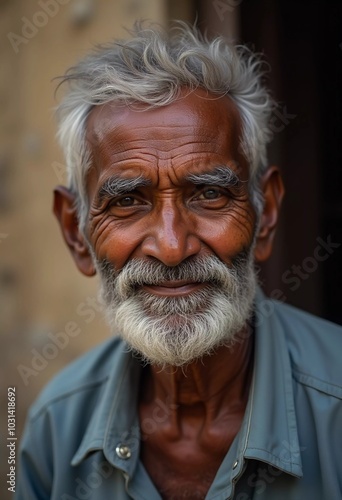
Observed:
[[[240,150],[250,166],[250,192],[256,212],[263,206],[259,179],[267,167],[270,117],[275,107],[263,85],[263,61],[243,46],[219,36],[208,40],[194,26],[176,22],[167,33],[160,26],[137,24],[129,40],[102,45],[70,68],[61,83],[69,91],[57,107],[58,139],[64,151],[68,185],[75,194],[80,228],[88,214],[85,187],[91,166],[86,121],[93,106],[120,101],[147,109],[174,102],[182,89],[228,95],[242,121]]]

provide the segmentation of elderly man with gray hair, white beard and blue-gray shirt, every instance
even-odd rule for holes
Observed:
[[[32,407],[19,499],[342,498],[341,328],[267,300],[262,64],[178,24],[72,68],[54,211],[111,338]]]

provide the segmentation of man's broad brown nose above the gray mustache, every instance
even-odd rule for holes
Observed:
[[[188,257],[199,253],[201,242],[195,234],[195,225],[186,213],[175,205],[156,209],[142,251],[166,266],[177,266]]]

